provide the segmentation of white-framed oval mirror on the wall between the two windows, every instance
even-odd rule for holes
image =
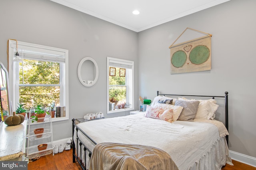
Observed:
[[[78,64],[77,69],[78,79],[82,85],[86,87],[93,86],[99,76],[99,68],[93,58],[83,58]]]

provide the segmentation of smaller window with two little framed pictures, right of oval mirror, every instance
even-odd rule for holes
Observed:
[[[134,62],[107,57],[107,113],[134,110]]]

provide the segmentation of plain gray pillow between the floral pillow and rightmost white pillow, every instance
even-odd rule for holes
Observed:
[[[175,106],[182,106],[183,110],[180,113],[178,120],[183,121],[193,121],[196,116],[196,111],[198,109],[199,101],[185,101],[185,100],[176,100]]]

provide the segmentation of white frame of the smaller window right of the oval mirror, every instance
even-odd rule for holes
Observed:
[[[130,101],[130,108],[109,110],[109,67],[112,67],[109,63],[115,63],[115,67],[125,68],[125,66],[130,66],[131,72],[126,72],[126,101]],[[132,78],[128,78],[132,76]],[[132,87],[132,89],[130,88]],[[123,60],[119,58],[107,57],[107,114],[126,112],[128,110],[134,110],[134,62],[130,60]]]

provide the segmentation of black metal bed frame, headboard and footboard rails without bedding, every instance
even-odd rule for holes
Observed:
[[[211,97],[212,99],[214,98],[225,98],[225,126],[226,129],[228,130],[228,92],[225,92],[225,96],[200,96],[200,95],[184,95],[184,94],[159,94],[159,91],[157,91],[157,96],[158,95],[163,95],[163,96],[192,96],[192,97]],[[84,150],[84,152],[86,152],[86,150],[89,152],[89,157],[91,157],[92,152],[85,146],[85,144],[79,139],[78,137],[78,131],[82,132],[88,139],[90,139],[95,145],[97,144],[97,142],[95,142],[92,138],[90,138],[90,136],[88,136],[83,130],[81,130],[77,125],[76,125],[76,120],[72,119],[72,139],[73,139],[73,163],[76,162],[76,160],[78,161],[78,163],[80,164],[81,168],[83,170],[86,170],[86,153],[84,153],[84,166],[83,166],[83,160],[82,158],[78,158],[77,153],[78,153],[78,143],[80,146],[80,157],[82,157],[82,150]],[[75,131],[75,127],[76,127],[76,144],[74,143],[74,131]],[[79,141],[79,142],[78,142]],[[228,135],[226,135],[226,141],[228,144]],[[82,149],[82,146],[84,147]]]

